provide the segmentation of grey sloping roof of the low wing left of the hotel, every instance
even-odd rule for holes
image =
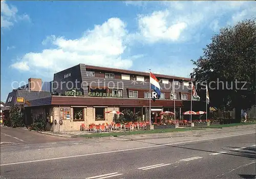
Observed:
[[[12,96],[12,101],[8,102],[9,97]],[[11,106],[11,105],[15,105],[15,104],[23,104],[20,102],[17,102],[17,98],[24,98],[25,101],[27,100],[32,100],[32,99],[37,99],[37,98],[44,98],[44,97],[48,97],[51,96],[50,92],[47,91],[28,91],[28,90],[17,90],[14,92],[9,93],[7,100],[6,100],[6,106]]]

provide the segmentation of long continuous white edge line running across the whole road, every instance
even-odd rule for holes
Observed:
[[[59,159],[69,159],[69,158],[76,158],[76,157],[90,156],[90,155],[98,155],[98,154],[105,154],[105,153],[117,153],[117,152],[123,152],[123,151],[131,151],[131,150],[139,150],[139,149],[146,149],[146,148],[153,148],[153,147],[163,147],[163,146],[168,146],[168,145],[177,145],[177,144],[185,144],[185,143],[191,143],[191,142],[209,141],[209,140],[214,140],[214,139],[223,139],[223,138],[230,138],[230,137],[236,137],[236,136],[251,135],[251,134],[254,134],[254,133],[255,132],[243,133],[243,134],[240,134],[240,135],[233,135],[233,136],[224,136],[224,137],[216,137],[216,138],[209,138],[209,139],[199,139],[199,140],[194,140],[194,141],[177,142],[177,143],[165,144],[165,145],[156,144],[154,146],[147,146],[147,147],[130,148],[130,149],[114,150],[114,151],[98,152],[98,153],[88,153],[88,154],[72,155],[72,156],[62,156],[62,157],[59,157],[59,158],[51,158],[51,159],[42,159],[42,160],[34,160],[34,161],[26,161],[26,162],[1,164],[0,166],[26,164],[26,163],[42,162],[42,161],[52,161],[52,160],[59,160]]]

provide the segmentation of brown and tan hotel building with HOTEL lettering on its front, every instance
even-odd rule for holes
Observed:
[[[190,101],[191,79],[154,75],[161,97],[151,102],[152,122],[160,122],[162,111],[174,111],[174,101],[181,116],[183,102]],[[173,82],[175,96],[170,94]],[[26,121],[43,114],[51,130],[69,131],[79,130],[82,123],[111,123],[113,114],[106,114],[109,110],[129,110],[134,118],[149,120],[149,89],[149,73],[78,64],[54,74],[51,96],[25,103]]]

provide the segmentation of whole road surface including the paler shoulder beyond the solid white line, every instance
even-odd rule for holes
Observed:
[[[1,177],[255,178],[254,132],[252,129],[232,136],[171,144],[159,144],[161,139],[94,143],[81,140],[45,144],[42,148],[1,147]],[[115,144],[117,148],[113,149]]]

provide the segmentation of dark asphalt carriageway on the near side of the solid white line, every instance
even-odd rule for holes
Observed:
[[[253,133],[176,145],[74,155],[67,158],[1,163],[1,177],[255,178],[255,141]],[[133,142],[143,146],[146,143]],[[98,143],[95,148],[101,147],[100,145]],[[102,147],[105,146],[102,144]],[[58,148],[52,148],[56,149]],[[35,149],[31,149],[31,152],[35,152]]]

